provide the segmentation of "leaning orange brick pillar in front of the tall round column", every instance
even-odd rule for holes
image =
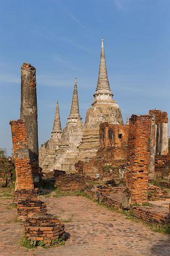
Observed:
[[[25,122],[17,120],[10,121],[10,124],[17,176],[13,202],[18,203],[22,199],[35,198],[37,196],[37,189],[34,189]]]

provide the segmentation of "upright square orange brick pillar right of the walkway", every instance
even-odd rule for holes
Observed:
[[[126,174],[132,204],[148,202],[150,132],[150,115],[132,115],[129,119]]]

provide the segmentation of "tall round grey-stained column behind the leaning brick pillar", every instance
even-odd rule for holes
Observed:
[[[38,163],[38,125],[37,125],[37,94],[36,69],[28,63],[21,66],[21,109],[20,119],[25,120],[28,148],[33,179],[35,185],[39,182]]]

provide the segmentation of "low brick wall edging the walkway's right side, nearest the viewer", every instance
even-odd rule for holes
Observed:
[[[170,215],[168,212],[161,212],[159,207],[150,206],[133,206],[133,214],[136,218],[140,218],[148,222],[170,223]]]

